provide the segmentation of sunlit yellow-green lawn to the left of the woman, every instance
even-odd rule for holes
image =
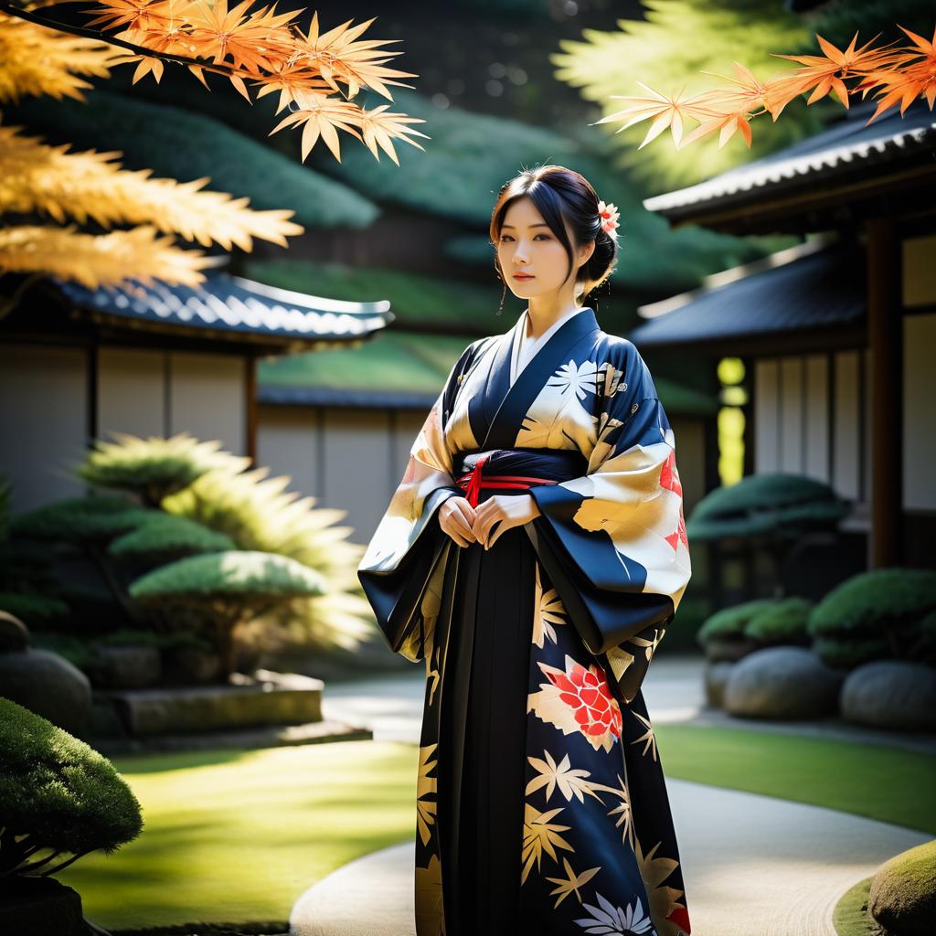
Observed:
[[[143,809],[136,841],[55,876],[107,929],[286,920],[346,862],[416,838],[417,748],[342,741],[113,758]]]

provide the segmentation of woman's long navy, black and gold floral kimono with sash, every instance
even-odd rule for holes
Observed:
[[[590,308],[511,385],[523,324],[456,361],[358,567],[388,646],[426,668],[417,936],[685,936],[640,689],[690,578],[673,431]],[[518,494],[540,515],[487,550],[435,517]]]

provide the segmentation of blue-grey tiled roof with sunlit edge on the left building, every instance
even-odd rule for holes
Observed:
[[[352,302],[279,289],[213,271],[193,288],[183,285],[134,284],[126,289],[89,289],[51,279],[72,304],[101,314],[150,326],[206,329],[223,337],[256,336],[288,343],[353,341],[393,321],[389,302]]]

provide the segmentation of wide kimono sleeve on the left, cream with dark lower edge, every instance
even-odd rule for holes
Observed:
[[[464,495],[452,475],[445,420],[475,346],[469,345],[446,378],[410,449],[409,461],[387,511],[358,564],[358,579],[390,649],[413,663],[426,654],[431,616],[426,608],[453,541],[435,513],[453,495]],[[429,621],[427,619],[430,619]]]

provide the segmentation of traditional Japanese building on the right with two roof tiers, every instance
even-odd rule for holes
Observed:
[[[664,355],[741,358],[744,473],[824,480],[852,502],[843,528],[867,537],[870,566],[932,566],[936,116],[916,102],[867,124],[875,106],[646,199],[674,227],[802,243],[643,306],[629,337]]]

